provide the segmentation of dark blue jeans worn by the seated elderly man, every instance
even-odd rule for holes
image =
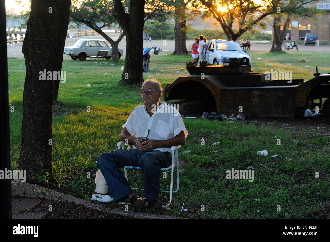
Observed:
[[[97,166],[115,202],[122,202],[133,193],[125,176],[120,172],[120,167],[141,167],[144,174],[145,196],[147,201],[151,202],[160,193],[160,168],[171,164],[171,154],[159,150],[118,149],[102,153],[97,158]]]

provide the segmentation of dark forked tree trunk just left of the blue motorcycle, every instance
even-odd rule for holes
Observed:
[[[115,17],[126,34],[125,67],[119,83],[125,86],[141,85],[143,82],[143,39],[141,36],[144,26],[145,0],[131,0],[128,14],[125,13],[120,0],[114,0],[114,2]]]

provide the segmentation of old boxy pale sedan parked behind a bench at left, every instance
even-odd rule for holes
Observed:
[[[73,46],[64,47],[64,54],[69,55],[73,60],[86,60],[86,57],[96,56],[99,50],[109,50],[106,59],[111,58],[111,47],[103,40],[80,39]],[[119,59],[124,54],[122,48],[118,48]]]

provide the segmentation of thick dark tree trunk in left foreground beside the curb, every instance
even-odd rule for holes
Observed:
[[[51,177],[51,109],[54,79],[58,76],[51,75],[45,80],[44,72],[62,69],[70,5],[70,0],[31,2],[22,46],[26,76],[18,162],[18,169],[26,170],[26,181],[29,183],[42,182],[36,174],[47,175],[46,172],[49,172]],[[42,169],[45,169],[44,172]]]

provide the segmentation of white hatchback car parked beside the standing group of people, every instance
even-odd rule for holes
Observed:
[[[251,64],[251,57],[243,51],[233,40],[211,39],[206,45],[206,61],[210,65],[226,65],[228,66],[232,58],[247,57]]]

